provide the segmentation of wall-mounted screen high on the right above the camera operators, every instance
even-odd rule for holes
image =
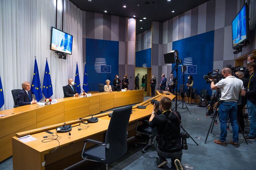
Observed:
[[[233,47],[249,39],[249,10],[247,3],[232,21]]]

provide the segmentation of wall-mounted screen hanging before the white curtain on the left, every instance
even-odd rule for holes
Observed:
[[[72,54],[73,36],[52,27],[50,49]]]

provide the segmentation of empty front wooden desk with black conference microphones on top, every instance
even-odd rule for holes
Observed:
[[[134,129],[137,125],[137,120],[148,117],[153,109],[153,105],[150,104],[152,99],[160,100],[161,97],[166,96],[173,99],[174,95],[160,94],[157,91],[157,96],[144,101],[138,105],[147,105],[146,109],[137,109],[137,105],[133,107],[133,113],[130,116],[128,125],[128,137],[134,135]],[[91,138],[99,141],[104,141],[104,132],[107,131],[110,118],[108,113],[97,115],[99,121],[94,124],[89,124],[90,127],[84,130],[78,130],[78,120],[66,122],[68,125],[72,125],[71,135],[67,133],[58,133],[61,138],[59,139],[60,145],[57,141],[51,141],[43,143],[45,139],[43,136],[48,135],[45,131],[51,131],[55,133],[55,128],[62,126],[63,123],[52,125],[44,129],[37,128],[21,133],[17,133],[15,137],[12,137],[13,147],[13,169],[64,169],[82,160],[81,151],[83,147],[83,141],[86,138]],[[30,134],[37,140],[23,143],[18,140],[18,137]],[[88,145],[87,147],[91,147]],[[55,150],[54,152],[52,152]]]

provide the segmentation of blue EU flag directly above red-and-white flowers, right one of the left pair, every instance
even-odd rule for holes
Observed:
[[[45,98],[50,98],[53,95],[52,80],[47,59],[44,70],[43,94]]]

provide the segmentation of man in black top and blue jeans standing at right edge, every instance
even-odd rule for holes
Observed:
[[[246,97],[247,97],[247,108],[248,108],[248,118],[250,121],[250,133],[246,135],[247,140],[255,140],[256,135],[256,64],[249,63],[246,67],[249,70],[250,77],[249,82],[246,87]],[[242,137],[242,139],[244,139]]]

